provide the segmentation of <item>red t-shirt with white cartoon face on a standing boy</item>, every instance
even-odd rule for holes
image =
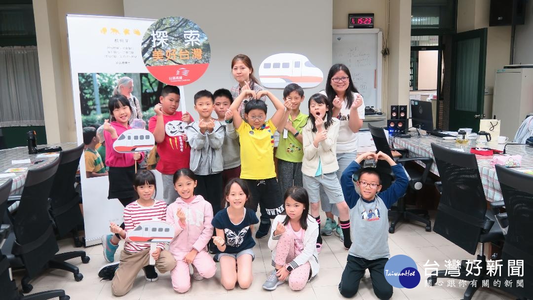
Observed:
[[[162,174],[174,174],[181,168],[189,168],[191,159],[191,147],[183,139],[185,127],[188,125],[181,121],[181,111],[176,111],[172,116],[163,115],[165,121],[165,139],[157,144],[159,163],[157,171]],[[191,117],[191,122],[193,121]],[[156,129],[157,116],[153,116],[148,121],[148,130],[154,132]]]

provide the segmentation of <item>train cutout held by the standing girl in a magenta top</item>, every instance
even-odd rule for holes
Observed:
[[[128,129],[118,136],[113,149],[119,153],[149,151],[155,143],[154,135],[146,129]]]

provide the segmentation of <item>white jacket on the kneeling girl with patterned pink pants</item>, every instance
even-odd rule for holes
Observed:
[[[286,216],[287,215],[285,214],[277,215],[276,218],[274,218],[272,225],[270,226],[270,237],[268,239],[268,247],[270,248],[270,250],[272,250],[273,266],[276,266],[276,263],[274,263],[274,258],[276,258],[276,246],[278,246],[278,241],[281,237],[281,234],[279,234],[278,236],[274,236],[274,231],[276,231],[278,223],[283,223]],[[311,265],[311,279],[318,274],[318,270],[320,269],[320,265],[318,264],[317,252],[317,238],[319,231],[320,230],[317,221],[314,220],[313,217],[308,215],[307,229],[305,230],[303,237],[304,247],[302,253],[296,256],[292,262],[288,263],[290,266],[293,267],[293,269],[296,269],[298,266],[309,262],[309,264]]]

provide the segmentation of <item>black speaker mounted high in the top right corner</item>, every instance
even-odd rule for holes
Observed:
[[[490,0],[489,26],[524,25],[526,0]]]

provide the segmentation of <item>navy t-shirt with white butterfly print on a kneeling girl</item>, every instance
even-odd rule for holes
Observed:
[[[228,208],[221,209],[213,217],[211,223],[216,229],[224,230],[226,239],[226,250],[224,253],[239,253],[242,250],[250,249],[255,246],[252,238],[250,225],[259,223],[259,219],[252,209],[245,208],[243,221],[239,224],[233,224],[228,216]],[[220,252],[220,251],[219,251]]]

